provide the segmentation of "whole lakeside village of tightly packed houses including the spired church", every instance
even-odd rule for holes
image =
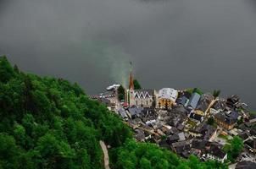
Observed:
[[[237,95],[223,99],[198,89],[135,90],[130,80],[125,101],[118,101],[118,87],[109,86],[92,98],[119,114],[134,129],[136,140],[157,143],[184,158],[225,162],[225,138],[237,135],[244,143],[237,161],[256,162],[256,117]]]

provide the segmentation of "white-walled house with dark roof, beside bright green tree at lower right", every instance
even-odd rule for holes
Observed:
[[[207,152],[206,158],[212,161],[224,162],[227,160],[227,154],[217,146],[211,146]]]

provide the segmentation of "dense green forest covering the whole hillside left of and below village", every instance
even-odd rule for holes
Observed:
[[[77,84],[25,74],[0,57],[0,168],[226,168],[183,160],[155,144],[136,143],[120,117],[92,101]]]

